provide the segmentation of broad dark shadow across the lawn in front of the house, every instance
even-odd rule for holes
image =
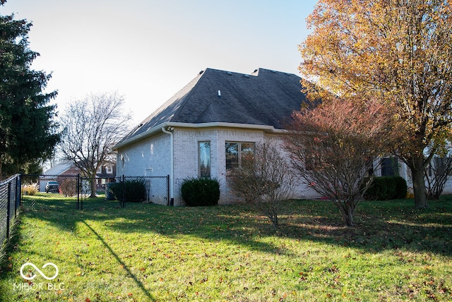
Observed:
[[[355,213],[355,228],[344,227],[338,209],[327,201],[290,200],[280,212],[277,231],[266,217],[246,205],[165,207],[128,203],[121,209],[117,208],[119,203],[101,198],[85,201],[83,211],[76,210],[70,200],[35,199],[33,204],[30,198],[24,205],[25,215],[69,231],[78,222],[93,220],[104,222],[112,231],[196,236],[267,253],[280,253],[280,248],[261,241],[260,237],[280,236],[365,251],[405,249],[452,255],[449,196],[429,201],[429,208],[422,210],[415,210],[412,200],[363,201]]]

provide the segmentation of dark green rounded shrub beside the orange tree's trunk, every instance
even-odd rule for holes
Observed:
[[[372,180],[364,193],[367,200],[402,199],[407,195],[407,182],[401,176],[380,176]]]

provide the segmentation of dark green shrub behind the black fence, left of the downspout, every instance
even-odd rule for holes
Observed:
[[[109,191],[117,200],[122,199],[124,190],[124,198],[128,203],[140,203],[146,199],[146,183],[144,179],[131,179],[124,183],[110,183]]]

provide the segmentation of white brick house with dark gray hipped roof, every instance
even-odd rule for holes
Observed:
[[[174,205],[184,205],[184,179],[215,178],[220,181],[219,203],[233,202],[228,171],[255,143],[282,143],[285,123],[306,100],[300,80],[264,68],[251,74],[201,71],[115,146],[117,176],[169,175]],[[300,186],[294,198],[316,196]]]

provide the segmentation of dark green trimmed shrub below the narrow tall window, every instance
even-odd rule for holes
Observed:
[[[220,183],[217,179],[184,179],[181,195],[189,207],[218,205]]]

